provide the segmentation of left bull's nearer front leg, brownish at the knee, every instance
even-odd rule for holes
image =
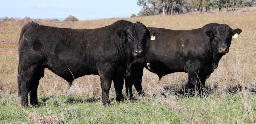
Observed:
[[[101,89],[102,89],[102,104],[103,105],[110,105],[109,102],[109,90],[111,87],[111,74],[100,74],[100,85],[101,85]]]

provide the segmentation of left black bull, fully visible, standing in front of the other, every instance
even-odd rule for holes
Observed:
[[[19,39],[18,89],[21,104],[37,105],[39,80],[47,67],[68,81],[95,74],[100,76],[102,103],[109,105],[114,82],[117,100],[123,99],[123,77],[130,72],[134,57],[141,57],[150,33],[140,22],[120,20],[97,29],[69,29],[30,22]]]

